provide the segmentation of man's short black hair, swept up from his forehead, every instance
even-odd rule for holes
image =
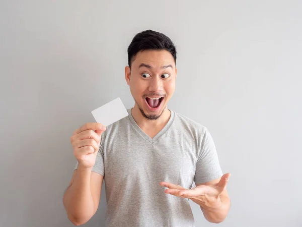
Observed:
[[[128,66],[131,68],[131,63],[135,55],[143,50],[168,50],[176,65],[176,47],[172,40],[161,32],[146,30],[137,33],[128,46]]]

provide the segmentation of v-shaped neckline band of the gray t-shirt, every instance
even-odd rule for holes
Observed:
[[[149,137],[147,134],[145,134],[140,128],[139,126],[136,124],[136,122],[134,121],[134,118],[132,116],[132,113],[131,113],[131,108],[130,109],[127,109],[128,111],[128,117],[129,117],[129,120],[130,122],[132,123],[134,129],[145,139],[147,140],[149,143],[154,143],[155,141],[157,141],[158,138],[160,138],[163,134],[165,134],[165,132],[167,132],[167,130],[170,128],[173,120],[174,120],[174,116],[175,116],[175,113],[174,111],[172,111],[171,109],[169,109],[171,111],[171,116],[170,116],[170,119],[169,121],[167,122],[167,124],[164,126],[164,128],[154,137],[154,138],[151,138]]]

